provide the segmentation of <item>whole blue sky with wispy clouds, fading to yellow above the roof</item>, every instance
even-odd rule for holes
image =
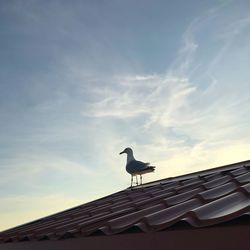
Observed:
[[[0,230],[250,158],[250,1],[1,0]]]

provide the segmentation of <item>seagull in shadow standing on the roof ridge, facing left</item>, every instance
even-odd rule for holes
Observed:
[[[142,161],[137,161],[134,158],[133,150],[131,148],[125,148],[121,154],[127,154],[127,164],[126,164],[126,171],[131,174],[131,185],[133,183],[133,177],[136,176],[136,184],[138,185],[137,175],[140,175],[140,184],[142,185],[142,175],[150,172],[154,172],[155,167],[150,166],[150,163],[145,163]]]

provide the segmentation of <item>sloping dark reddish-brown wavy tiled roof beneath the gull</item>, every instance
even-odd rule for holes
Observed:
[[[240,221],[240,218],[244,220]],[[125,189],[3,231],[0,242],[250,224],[250,161]]]

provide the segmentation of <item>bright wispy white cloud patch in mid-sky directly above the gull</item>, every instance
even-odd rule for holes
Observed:
[[[195,87],[184,78],[156,74],[120,77],[115,88],[99,86],[94,91],[100,101],[90,103],[83,115],[117,119],[144,116],[145,128],[156,122],[173,126],[174,115],[194,91]]]

